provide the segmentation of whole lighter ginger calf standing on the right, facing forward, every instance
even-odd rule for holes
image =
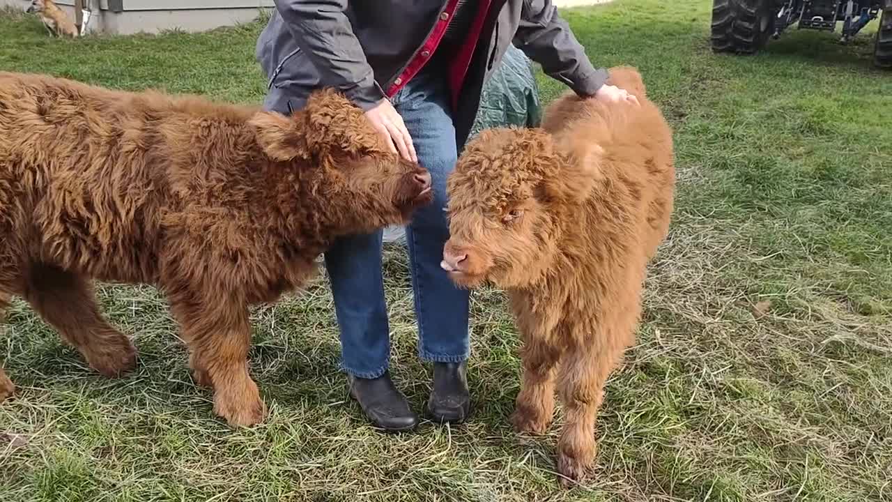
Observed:
[[[615,68],[610,81],[640,106],[567,94],[544,130],[483,132],[449,181],[443,268],[460,285],[508,290],[524,340],[517,431],[549,427],[560,363],[558,470],[571,480],[593,462],[604,381],[633,343],[673,210],[672,131],[637,71]]]

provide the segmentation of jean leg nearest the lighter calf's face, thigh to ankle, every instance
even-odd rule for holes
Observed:
[[[418,75],[394,99],[412,137],[418,162],[429,172],[434,202],[417,210],[406,230],[412,289],[418,321],[418,354],[425,361],[459,362],[468,356],[469,293],[457,288],[440,268],[449,238],[446,180],[458,156],[446,79]]]

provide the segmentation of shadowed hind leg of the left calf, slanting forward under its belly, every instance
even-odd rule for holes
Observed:
[[[23,296],[97,372],[118,376],[136,364],[136,348],[99,314],[86,278],[53,265],[32,265]]]

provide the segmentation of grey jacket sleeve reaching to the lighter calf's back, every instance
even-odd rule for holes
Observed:
[[[591,65],[585,48],[558,14],[551,0],[524,0],[514,45],[549,77],[580,96],[592,96],[607,81],[607,70]]]

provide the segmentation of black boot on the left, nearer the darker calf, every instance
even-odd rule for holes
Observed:
[[[409,407],[406,397],[396,389],[389,372],[378,378],[348,376],[350,395],[362,406],[368,420],[385,431],[410,431],[418,424],[418,417]]]

